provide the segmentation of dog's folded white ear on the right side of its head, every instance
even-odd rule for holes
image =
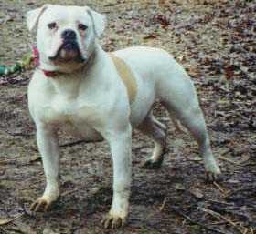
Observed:
[[[91,10],[91,8],[88,6],[86,7],[86,11],[91,16],[96,36],[100,37],[106,27],[106,16]]]

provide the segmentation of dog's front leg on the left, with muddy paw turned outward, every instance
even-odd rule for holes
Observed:
[[[31,205],[32,211],[46,211],[59,198],[59,143],[52,127],[37,124],[37,147],[42,157],[47,185],[42,197]]]

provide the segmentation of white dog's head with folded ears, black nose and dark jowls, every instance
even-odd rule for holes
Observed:
[[[72,72],[83,66],[105,28],[105,16],[88,6],[43,5],[27,12],[27,27],[37,27],[40,66]]]

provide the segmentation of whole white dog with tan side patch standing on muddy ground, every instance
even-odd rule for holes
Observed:
[[[89,7],[43,5],[27,13],[37,26],[39,65],[28,87],[28,106],[37,127],[47,186],[31,210],[46,210],[59,197],[57,131],[87,140],[106,139],[113,163],[112,207],[104,226],[123,225],[131,184],[131,134],[137,127],[155,141],[143,168],[161,166],[165,126],[152,115],[156,98],[197,140],[208,178],[220,174],[212,155],[197,94],[189,76],[162,49],[131,47],[106,53],[97,41],[105,16]]]

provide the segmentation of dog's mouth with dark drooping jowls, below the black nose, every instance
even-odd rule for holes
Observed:
[[[54,63],[84,62],[78,43],[68,40],[64,41],[62,45],[59,46],[56,55],[50,56],[49,59]]]

